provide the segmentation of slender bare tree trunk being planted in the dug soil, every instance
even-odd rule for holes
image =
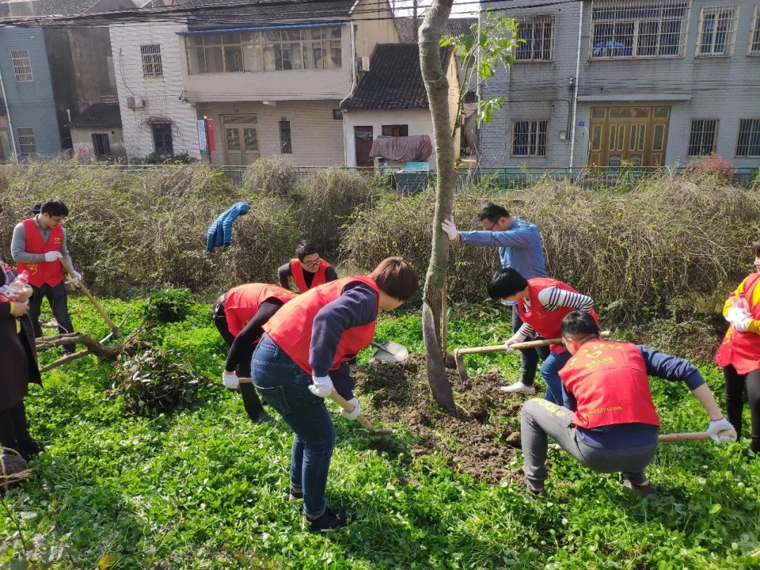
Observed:
[[[453,3],[454,0],[434,0],[426,11],[425,20],[420,28],[420,68],[432,117],[438,175],[435,188],[435,216],[432,220],[432,252],[423,295],[423,338],[430,390],[439,406],[450,413],[456,410],[456,406],[451,384],[446,376],[440,337],[441,302],[448,270],[449,246],[448,237],[441,230],[441,223],[451,214],[454,204],[456,171],[451,116],[448,111],[448,80],[441,65],[440,42]]]

